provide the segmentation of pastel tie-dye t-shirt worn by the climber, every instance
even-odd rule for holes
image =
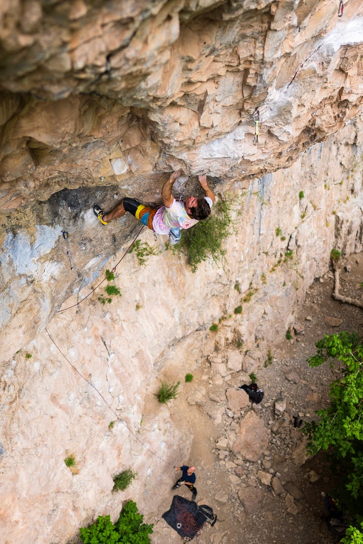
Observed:
[[[212,207],[212,199],[205,196],[205,200]],[[173,200],[173,204],[170,208],[161,206],[158,208],[156,214],[152,220],[153,230],[157,234],[169,234],[170,228],[190,228],[198,223],[198,219],[189,217],[184,208],[184,202],[182,200]]]

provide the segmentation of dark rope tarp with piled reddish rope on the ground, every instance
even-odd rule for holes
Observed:
[[[182,538],[188,537],[188,541],[194,539],[206,521],[193,500],[184,499],[179,495],[174,495],[170,509],[164,512],[162,518]]]

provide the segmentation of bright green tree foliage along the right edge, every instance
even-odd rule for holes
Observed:
[[[337,490],[340,503],[354,524],[343,542],[363,544],[363,339],[356,332],[341,332],[324,336],[316,348],[316,355],[308,360],[310,366],[329,362],[333,367],[340,361],[341,376],[330,384],[330,406],[316,412],[317,422],[305,424],[308,451],[327,450],[330,454],[333,469],[341,477]]]

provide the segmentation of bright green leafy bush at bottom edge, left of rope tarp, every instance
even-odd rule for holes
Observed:
[[[139,513],[136,503],[130,500],[120,512],[115,524],[110,516],[99,516],[90,527],[79,529],[84,544],[149,544],[153,524],[143,523],[144,516]]]

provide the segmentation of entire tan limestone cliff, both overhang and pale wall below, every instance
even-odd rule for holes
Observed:
[[[160,381],[179,380],[186,358],[190,370],[208,361],[216,384],[241,370],[244,381],[295,323],[331,249],[363,249],[363,8],[336,11],[2,3],[1,541],[60,544],[99,514],[115,518],[128,495],[110,493],[112,477],[127,466],[141,510],[156,509],[155,482],[170,482],[147,448],[174,465],[192,442],[157,404]],[[130,216],[103,228],[93,215],[94,202],[108,210],[125,195],[160,202],[179,168],[176,196],[198,194],[201,172],[231,195],[224,267],[193,275]],[[145,268],[127,255],[137,236],[160,251]],[[116,265],[122,297],[102,306],[99,283]],[[240,408],[235,393],[229,404]],[[222,421],[218,405],[211,418]],[[304,455],[294,452],[297,465]]]

